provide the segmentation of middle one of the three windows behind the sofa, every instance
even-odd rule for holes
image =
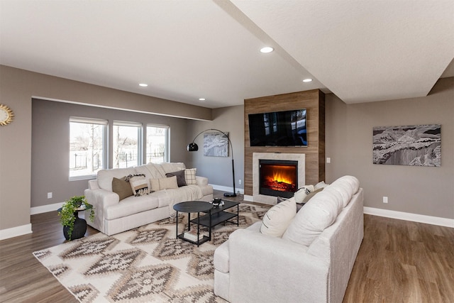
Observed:
[[[142,124],[114,121],[114,168],[133,167],[142,164]]]

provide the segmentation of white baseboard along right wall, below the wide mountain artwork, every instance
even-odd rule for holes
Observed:
[[[389,209],[375,209],[364,206],[364,213],[372,216],[385,216],[387,218],[414,221],[438,226],[454,227],[454,219],[440,218],[438,216],[426,216],[423,214],[411,214],[402,211],[391,211]]]

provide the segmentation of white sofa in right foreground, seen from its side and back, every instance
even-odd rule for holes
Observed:
[[[355,177],[341,177],[315,194],[282,237],[261,228],[257,222],[234,231],[216,249],[216,295],[241,303],[342,302],[364,234]]]

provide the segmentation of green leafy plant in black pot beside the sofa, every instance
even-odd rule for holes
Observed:
[[[89,219],[94,221],[94,207],[87,202],[85,196],[74,196],[66,200],[58,209],[63,234],[68,241],[82,238],[87,231],[87,221],[79,218],[79,211],[89,211]]]

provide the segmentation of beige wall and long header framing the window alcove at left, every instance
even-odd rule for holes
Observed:
[[[13,123],[0,127],[0,231],[30,224],[32,97],[211,119],[211,109],[0,65],[0,103],[16,115]]]

